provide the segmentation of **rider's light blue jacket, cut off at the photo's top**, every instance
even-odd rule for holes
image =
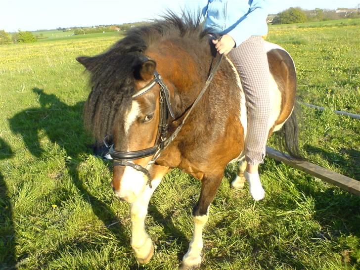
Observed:
[[[208,0],[202,9],[205,28],[213,33],[230,35],[236,46],[251,36],[268,33],[267,4],[269,0]]]

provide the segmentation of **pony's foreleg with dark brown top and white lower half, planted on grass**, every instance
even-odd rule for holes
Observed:
[[[209,207],[222,180],[221,177],[205,178],[202,181],[199,201],[192,211],[194,232],[189,244],[189,249],[182,258],[180,270],[192,269],[201,264],[201,251],[203,249],[202,231],[209,218]]]

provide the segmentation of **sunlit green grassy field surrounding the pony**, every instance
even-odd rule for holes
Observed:
[[[307,27],[309,26],[309,27]],[[302,108],[300,146],[325,168],[360,179],[360,20],[271,26],[268,40],[293,56]],[[82,125],[87,75],[79,55],[117,35],[63,37],[0,47],[0,269],[176,269],[192,235],[199,181],[174,170],[150,201],[153,259],[139,267],[127,203],[109,164],[91,155]],[[272,145],[273,139],[270,140]],[[359,269],[360,198],[266,159],[254,203],[231,190],[229,165],[204,229],[201,269]]]

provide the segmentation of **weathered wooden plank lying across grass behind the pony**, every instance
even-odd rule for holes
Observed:
[[[291,156],[268,146],[266,147],[266,152],[270,158],[282,161],[283,163],[290,165],[291,167],[294,167],[300,171],[308,173],[312,176],[315,176],[316,178],[332,183],[346,191],[360,196],[360,181],[358,180],[332,172],[307,161],[296,160]]]

